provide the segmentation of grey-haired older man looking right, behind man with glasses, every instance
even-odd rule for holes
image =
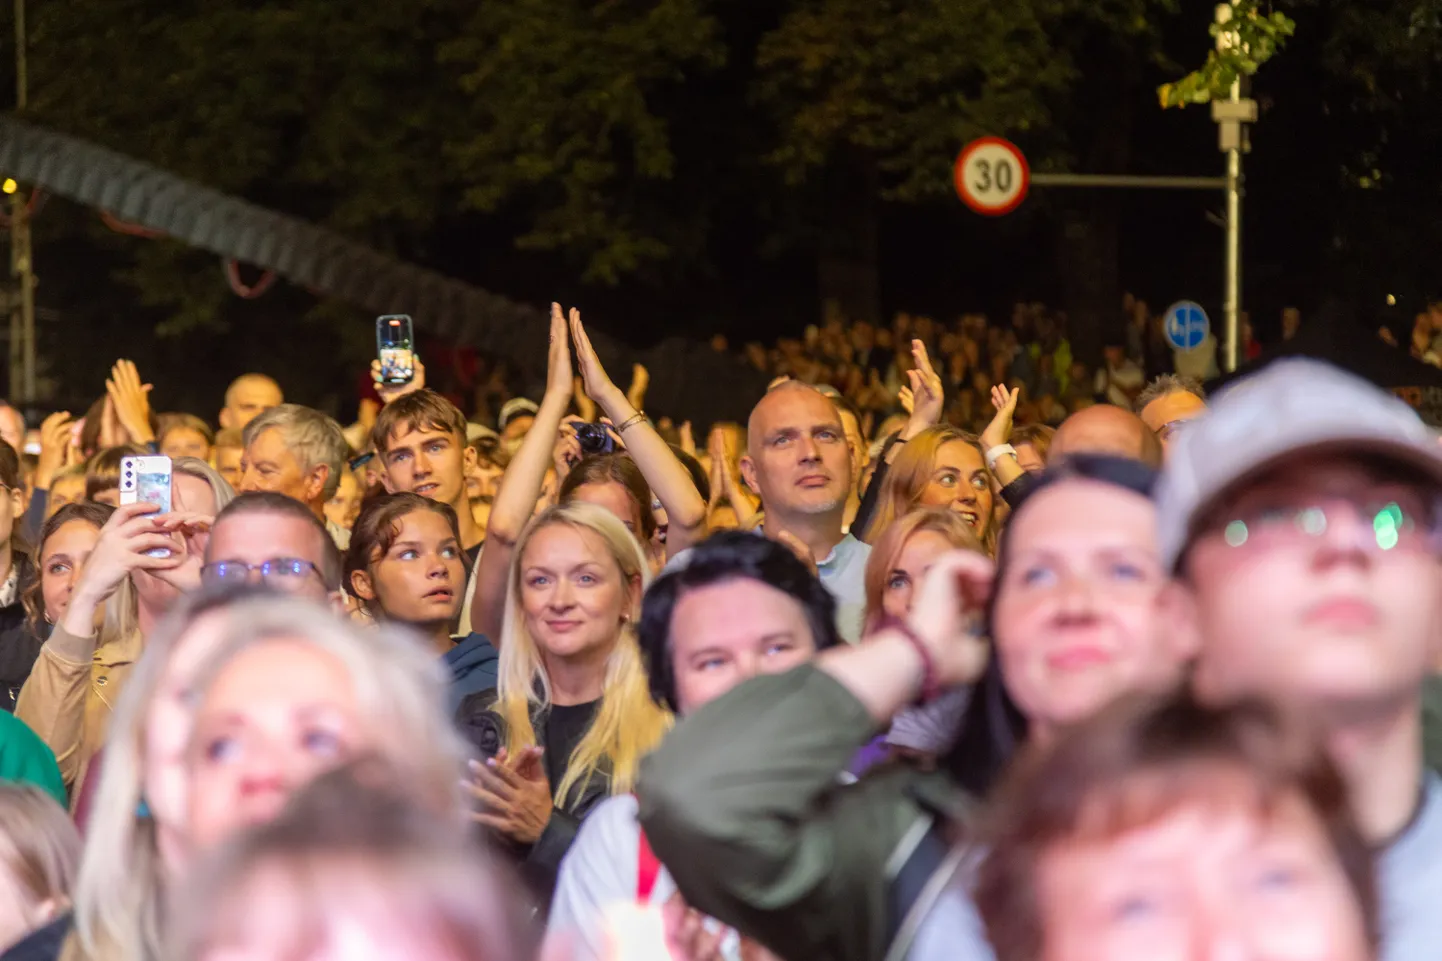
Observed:
[[[245,424],[245,453],[236,489],[273,491],[300,501],[326,519],[326,501],[340,486],[346,462],[346,439],[333,418],[300,404],[281,404]],[[326,531],[345,550],[350,534],[326,524]]]

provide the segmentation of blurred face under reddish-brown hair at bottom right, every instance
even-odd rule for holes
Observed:
[[[1043,961],[1370,961],[1361,906],[1296,795],[1194,801],[1037,863]]]

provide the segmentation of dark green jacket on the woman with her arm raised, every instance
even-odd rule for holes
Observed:
[[[900,766],[841,785],[875,729],[812,665],[747,681],[678,724],[643,762],[637,799],[691,906],[783,958],[885,958],[900,926],[893,879],[965,798],[942,773]],[[917,918],[929,908],[911,905]]]

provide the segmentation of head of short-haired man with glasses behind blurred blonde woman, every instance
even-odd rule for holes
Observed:
[[[340,551],[310,508],[283,493],[242,493],[221,511],[211,527],[200,582],[262,582],[343,605]]]

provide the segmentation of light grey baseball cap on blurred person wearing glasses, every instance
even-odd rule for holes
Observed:
[[[1399,397],[1331,364],[1276,361],[1174,436],[1156,485],[1162,563],[1177,569],[1198,515],[1239,480],[1328,449],[1406,463],[1442,485],[1436,436]]]

